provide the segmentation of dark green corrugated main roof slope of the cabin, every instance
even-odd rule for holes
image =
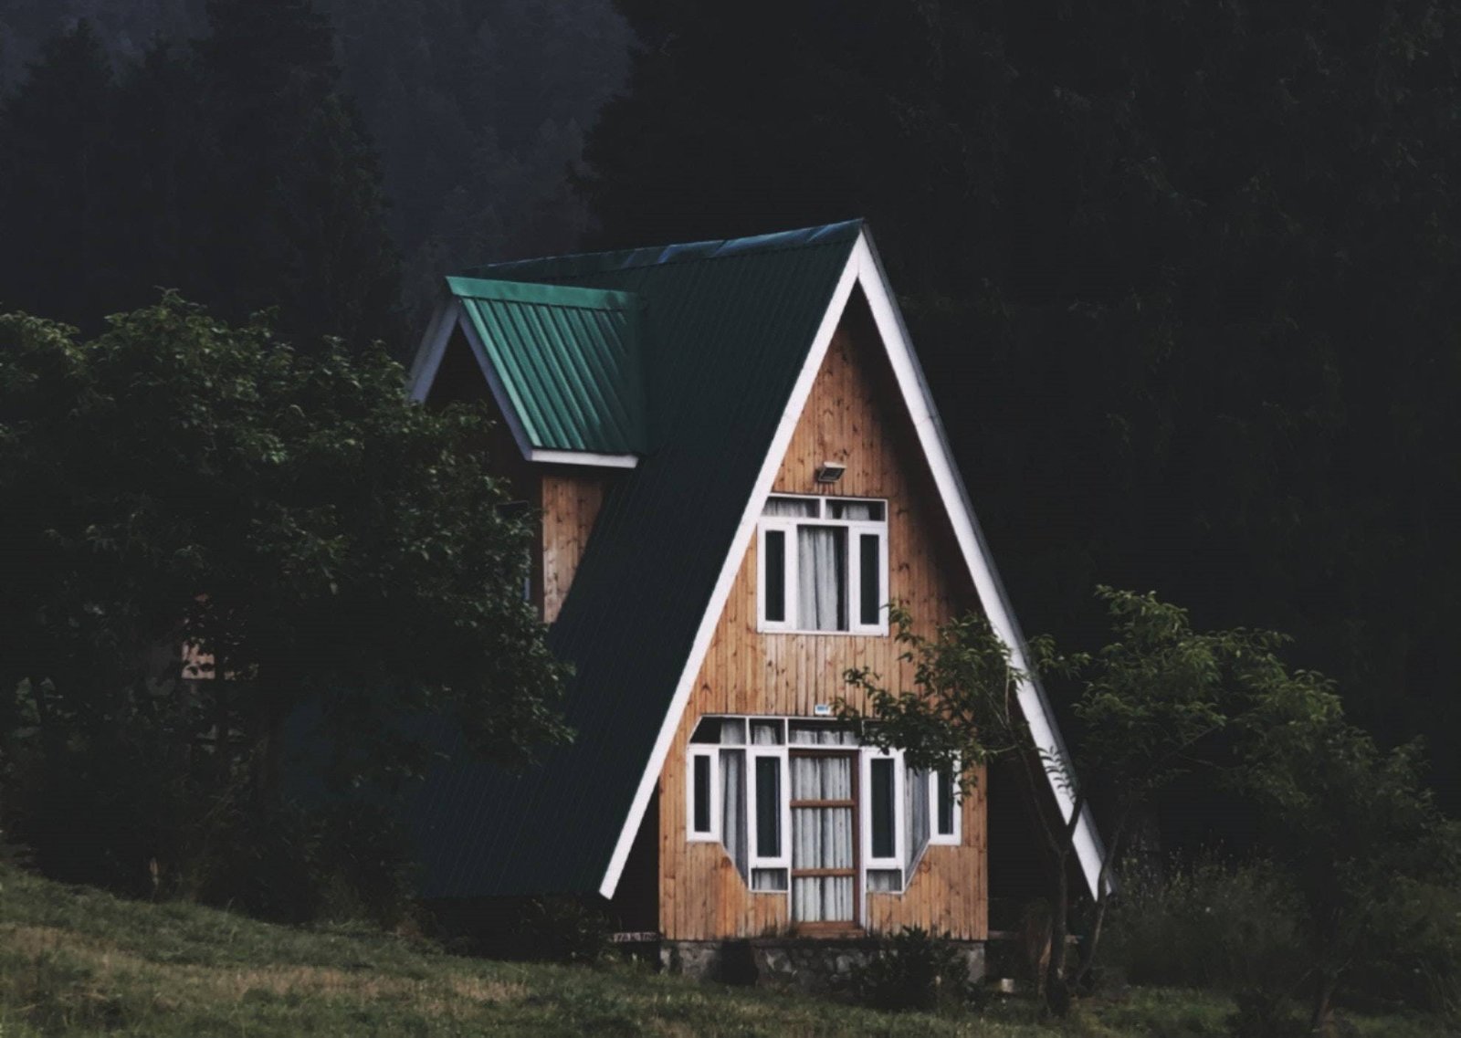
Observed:
[[[522,775],[460,753],[413,812],[427,896],[596,891],[861,220],[473,272],[643,302],[650,448],[605,498],[551,644],[577,740]]]

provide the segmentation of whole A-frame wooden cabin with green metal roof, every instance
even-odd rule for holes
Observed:
[[[726,942],[989,936],[986,783],[837,726],[849,667],[912,680],[980,609],[1023,639],[862,222],[485,267],[449,295],[418,400],[484,399],[539,517],[524,594],[573,661],[579,736],[511,775],[463,755],[416,825],[434,898],[605,899],[665,961]],[[1065,747],[1036,685],[1021,705]],[[1068,816],[1065,790],[1040,796]],[[1080,867],[1100,850],[1086,818]],[[758,945],[760,946],[760,945]],[[785,961],[785,956],[777,961]]]

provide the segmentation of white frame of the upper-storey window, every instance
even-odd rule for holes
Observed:
[[[761,515],[757,524],[757,566],[755,566],[755,629],[761,634],[811,634],[811,635],[887,635],[888,634],[888,501],[887,498],[842,498],[834,495],[808,493],[771,493],[770,498],[789,498],[793,501],[817,502],[815,515]],[[882,505],[881,520],[843,520],[827,515],[827,502],[850,501],[856,504]],[[764,510],[763,504],[763,510]],[[798,590],[801,587],[798,574],[798,537],[796,530],[804,526],[840,527],[847,531],[847,629],[818,631],[796,626],[799,615]],[[770,530],[780,531],[785,537],[783,552],[785,571],[783,587],[786,618],[768,620],[766,618],[766,534]],[[878,622],[862,622],[862,534],[874,534],[878,539]]]

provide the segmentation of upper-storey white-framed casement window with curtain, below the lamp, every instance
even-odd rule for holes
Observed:
[[[888,632],[888,504],[771,495],[758,527],[758,629]]]

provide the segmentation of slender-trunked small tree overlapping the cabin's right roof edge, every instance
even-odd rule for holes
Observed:
[[[1074,686],[1071,711],[1080,723],[1075,761],[1037,743],[1018,696],[1031,676],[1011,663],[1010,647],[989,622],[969,615],[939,628],[935,638],[912,629],[912,618],[894,609],[901,656],[915,664],[913,688],[890,691],[877,674],[849,670],[847,680],[868,696],[866,711],[842,705],[842,715],[863,724],[878,746],[903,747],[910,766],[947,769],[974,781],[976,765],[1008,758],[1024,769],[1034,791],[1036,819],[1052,869],[1052,946],[1045,983],[1052,1010],[1064,1015],[1072,981],[1094,962],[1102,920],[1132,819],[1175,780],[1221,750],[1218,736],[1252,691],[1249,661],[1268,658],[1277,635],[1252,631],[1195,632],[1185,610],[1154,594],[1100,588],[1110,622],[1109,642],[1094,654],[1061,654],[1052,639],[1030,644],[1036,670]],[[1074,765],[1074,766],[1071,766]],[[1059,816],[1045,809],[1043,772],[1052,772],[1071,794]],[[1067,968],[1071,893],[1069,866],[1075,829],[1091,793],[1105,794],[1105,857],[1097,879],[1097,915],[1086,959],[1074,978]]]

